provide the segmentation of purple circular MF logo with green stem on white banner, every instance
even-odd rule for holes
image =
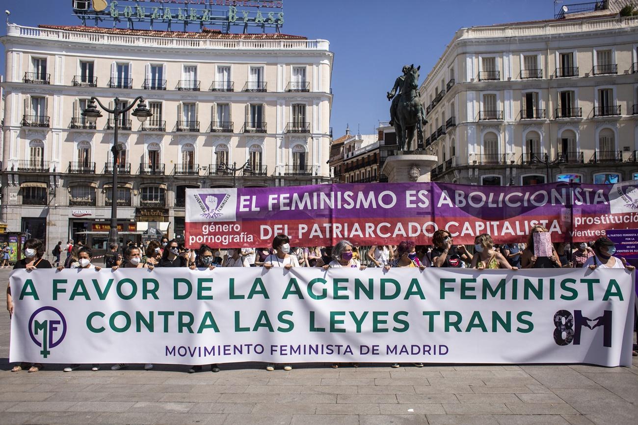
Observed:
[[[66,335],[66,320],[57,308],[45,306],[34,311],[29,318],[29,336],[41,347],[40,354],[46,359],[50,349],[57,347]]]

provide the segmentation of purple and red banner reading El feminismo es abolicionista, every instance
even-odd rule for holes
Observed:
[[[524,242],[542,224],[557,241],[592,241],[607,229],[638,227],[638,182],[532,186],[446,183],[327,184],[186,189],[186,246],[269,246],[280,233],[292,246],[431,243],[446,229],[454,243],[489,233]]]

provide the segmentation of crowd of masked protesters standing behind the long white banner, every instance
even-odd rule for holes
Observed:
[[[110,244],[105,255],[105,267],[112,270],[118,268],[147,268],[153,270],[160,267],[182,267],[191,270],[214,270],[216,267],[263,267],[267,270],[273,267],[290,269],[293,267],[316,267],[328,270],[329,268],[353,268],[364,270],[366,266],[385,268],[390,270],[397,267],[419,268],[425,270],[429,267],[437,268],[475,268],[484,269],[510,269],[520,268],[627,268],[634,267],[621,257],[614,256],[616,248],[608,238],[585,243],[580,242],[575,247],[568,243],[553,243],[545,256],[537,256],[534,243],[537,239],[535,233],[547,233],[543,226],[534,226],[526,243],[507,243],[500,245],[494,243],[489,234],[480,234],[475,238],[473,247],[454,245],[452,234],[445,230],[434,232],[433,245],[415,245],[413,241],[401,241],[397,246],[373,245],[360,247],[355,241],[341,240],[334,247],[291,247],[290,239],[285,234],[279,234],[272,240],[271,247],[222,249],[221,247],[208,247],[202,245],[199,249],[186,249],[183,243],[177,240],[162,238],[158,241],[149,241],[145,246],[138,246],[130,242],[120,250],[116,243]],[[540,238],[538,238],[540,240]],[[64,264],[61,264],[61,253],[66,252]],[[24,242],[22,248],[24,258],[20,259],[14,269],[24,268],[33,270],[36,268],[52,268],[52,264],[44,259],[44,246],[42,241],[29,239]],[[81,242],[76,245],[68,241],[62,247],[62,242],[56,245],[52,254],[56,258],[54,264],[57,270],[64,268],[93,268],[100,270],[99,266],[91,263],[92,252],[89,247],[84,247]],[[13,300],[11,289],[7,287],[7,310],[13,314]],[[634,347],[635,349],[635,347]],[[634,350],[633,355],[637,353]],[[422,367],[422,363],[414,363]],[[219,371],[217,364],[211,364],[211,370]],[[352,366],[358,366],[352,364]],[[391,365],[394,368],[399,364]],[[128,364],[119,363],[112,366],[112,370],[120,370],[128,367]],[[332,367],[339,367],[333,364]],[[43,364],[19,364],[12,371],[28,369],[36,372],[43,368]],[[73,371],[80,368],[79,364],[71,364],[64,371]],[[153,368],[152,364],[145,364],[145,370]],[[274,364],[268,364],[266,370],[274,370]],[[291,370],[291,364],[284,364],[284,370]],[[93,364],[91,370],[100,370],[100,364]],[[189,373],[202,370],[202,366],[189,368]]]

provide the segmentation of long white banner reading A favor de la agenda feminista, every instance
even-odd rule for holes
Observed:
[[[10,361],[630,366],[626,270],[16,270]]]

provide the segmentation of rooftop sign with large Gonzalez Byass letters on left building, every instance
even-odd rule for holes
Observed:
[[[265,9],[262,11],[262,9]],[[73,14],[84,25],[109,20],[115,22],[161,22],[168,24],[230,25],[274,27],[283,25],[283,0],[75,0]]]

